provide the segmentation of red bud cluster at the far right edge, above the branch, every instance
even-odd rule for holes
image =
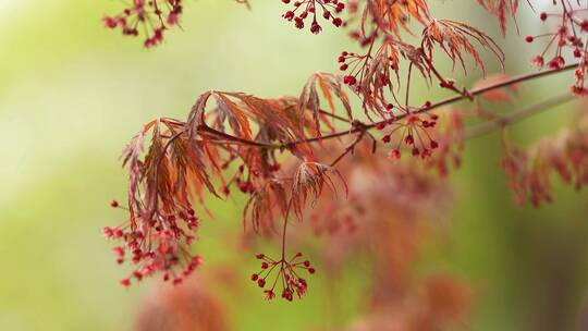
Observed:
[[[586,9],[574,9],[562,2],[559,13],[542,12],[539,14],[539,20],[542,22],[551,19],[558,22],[554,32],[525,37],[527,42],[534,42],[537,39],[549,39],[543,51],[532,58],[531,63],[538,68],[543,68],[547,64],[550,70],[560,70],[565,65],[567,53],[579,59],[578,68],[575,71],[576,82],[571,90],[577,96],[586,96],[588,95],[584,82],[588,62],[588,17],[586,16]],[[550,50],[553,50],[552,54],[546,59]]]

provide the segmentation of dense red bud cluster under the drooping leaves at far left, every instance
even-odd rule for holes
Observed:
[[[126,209],[117,200],[110,206]],[[163,281],[182,283],[201,263],[199,256],[189,253],[197,228],[198,219],[191,207],[166,217],[154,216],[149,221],[137,218],[115,228],[105,228],[106,237],[119,243],[112,249],[117,262],[121,265],[128,259],[134,267],[132,274],[121,280],[121,285],[127,287],[132,279],[138,282],[159,271],[163,272]]]

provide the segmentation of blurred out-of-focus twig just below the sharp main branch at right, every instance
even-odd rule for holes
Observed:
[[[549,110],[555,106],[566,103],[574,100],[574,96],[566,93],[555,96],[553,98],[527,106],[525,108],[512,111],[506,115],[493,119],[491,121],[466,128],[464,132],[464,139],[475,138],[485,134],[491,133],[495,128],[501,128],[506,125],[525,120],[531,115],[538,114],[542,111]]]

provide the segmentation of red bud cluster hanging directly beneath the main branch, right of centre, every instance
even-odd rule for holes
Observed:
[[[422,119],[427,117],[427,119]],[[387,126],[393,126],[383,137],[384,144],[392,143],[393,135],[400,132],[400,138],[396,140],[396,146],[390,152],[393,159],[401,158],[401,147],[405,145],[411,149],[413,157],[420,157],[426,159],[431,156],[432,150],[439,147],[439,143],[434,140],[429,130],[433,128],[437,124],[439,117],[437,114],[427,113],[425,115],[408,114],[404,121],[380,122],[377,125],[378,130],[384,130]]]

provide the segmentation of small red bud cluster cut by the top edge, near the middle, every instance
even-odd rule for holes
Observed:
[[[291,0],[282,0],[283,3],[291,3]],[[345,3],[340,0],[303,0],[294,1],[294,9],[285,12],[282,17],[287,21],[294,21],[294,25],[297,28],[304,28],[304,22],[310,15],[313,22],[310,23],[310,32],[313,34],[320,34],[322,27],[318,23],[317,14],[320,9],[322,17],[329,20],[334,26],[340,27],[343,25],[343,20],[338,15],[345,9]]]

